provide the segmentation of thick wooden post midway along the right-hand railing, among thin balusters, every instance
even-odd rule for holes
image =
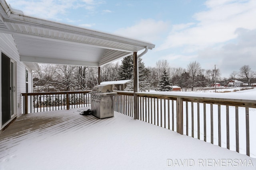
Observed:
[[[183,135],[183,100],[182,98],[177,98],[177,133]]]

